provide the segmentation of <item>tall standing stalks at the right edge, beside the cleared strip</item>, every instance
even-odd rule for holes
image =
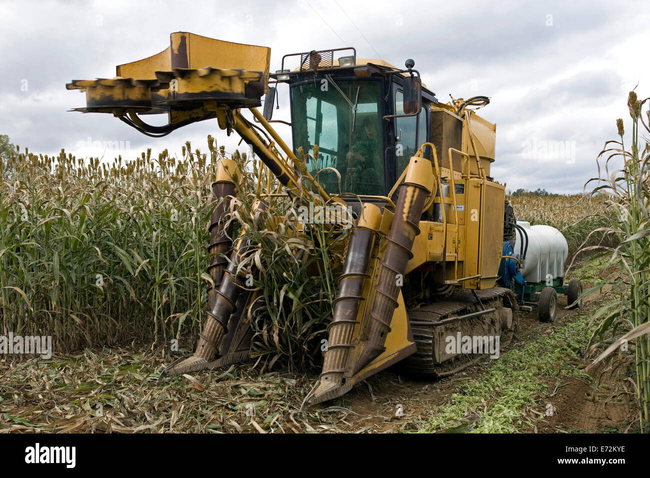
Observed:
[[[638,100],[634,91],[630,92],[628,108],[632,118],[631,146],[625,148],[625,129],[623,120],[617,120],[619,141],[608,141],[599,154],[597,164],[599,178],[590,179],[601,183],[592,194],[606,194],[606,209],[611,224],[603,230],[614,235],[619,245],[610,254],[610,263],[619,266],[620,274],[614,279],[594,278],[595,285],[584,291],[584,296],[612,285],[619,291],[619,298],[601,308],[594,320],[599,326],[594,332],[592,350],[609,345],[588,367],[612,358],[616,349],[629,356],[633,352],[636,378],[636,395],[639,405],[639,420],[642,432],[650,432],[650,144],[640,138],[640,126],[650,133],[642,118],[642,107],[646,100]],[[650,120],[650,112],[645,112]],[[641,149],[641,140],[645,146]],[[608,165],[612,159],[622,160],[621,169],[609,172]],[[604,160],[604,171],[601,161]],[[604,172],[604,174],[603,174]],[[632,343],[632,341],[634,341]]]

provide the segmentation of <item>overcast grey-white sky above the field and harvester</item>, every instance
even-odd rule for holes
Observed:
[[[647,1],[0,0],[0,134],[31,152],[105,159],[116,154],[93,142],[122,141],[131,159],[146,148],[180,155],[186,140],[205,150],[212,134],[231,152],[239,138],[216,120],[153,139],[109,114],[68,113],[85,96],[65,84],[113,77],[174,31],[271,47],[273,72],[285,53],[354,46],[399,67],[414,59],[441,101],[489,96],[480,114],[497,124],[492,175],[508,189],[578,192],[616,139],[616,118],[631,129],[629,90],[650,96],[649,12]],[[281,85],[274,119],[289,119],[288,101]]]

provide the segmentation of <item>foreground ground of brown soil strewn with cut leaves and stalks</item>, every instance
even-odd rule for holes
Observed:
[[[568,338],[572,321],[593,315],[605,299],[595,293],[576,312],[565,310],[566,299],[560,296],[552,324],[540,323],[535,310],[520,311],[515,337],[499,360],[511,351],[543,343],[557,331],[566,329]],[[86,349],[51,360],[5,357],[0,360],[0,432],[466,432],[488,416],[490,423],[495,419],[498,423],[484,422],[476,431],[634,430],[633,387],[625,379],[625,369],[601,366],[586,375],[581,371],[587,364],[584,350],[552,352],[556,371],[550,367],[550,373],[522,375],[525,392],[514,405],[511,397],[499,393],[467,397],[474,393],[468,392],[468,384],[489,378],[499,362],[486,358],[454,377],[435,381],[409,378],[391,368],[305,412],[299,411],[300,404],[317,378],[315,373],[259,376],[250,371],[251,364],[242,364],[157,384],[169,361],[162,349],[151,352],[134,345]],[[536,360],[545,359],[530,354],[519,362],[528,360],[536,365]],[[520,367],[524,373],[526,367]],[[510,374],[506,370],[502,375]],[[476,405],[461,406],[456,415],[438,419],[465,399]],[[499,407],[502,414],[494,412]],[[505,421],[500,421],[503,416]]]

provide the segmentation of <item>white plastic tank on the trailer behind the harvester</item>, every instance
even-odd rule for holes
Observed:
[[[530,222],[518,220],[528,235],[528,250],[526,260],[521,268],[521,275],[526,282],[546,282],[547,276],[552,279],[564,277],[564,262],[569,256],[569,246],[564,235],[551,226],[531,226]],[[521,254],[521,245],[526,248],[526,237],[517,231],[515,239],[515,254]]]

